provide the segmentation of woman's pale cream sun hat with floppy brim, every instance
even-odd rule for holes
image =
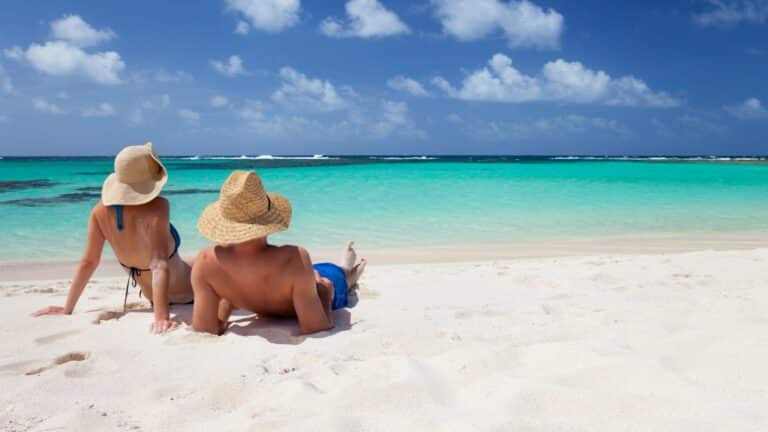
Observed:
[[[168,172],[152,150],[152,143],[124,148],[115,158],[115,172],[101,187],[101,201],[110,205],[146,204],[168,181]]]

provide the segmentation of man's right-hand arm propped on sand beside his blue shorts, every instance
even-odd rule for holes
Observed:
[[[315,271],[309,253],[299,249],[299,262],[295,269],[293,284],[293,308],[299,319],[302,334],[316,333],[333,327],[331,314],[326,313],[318,295]]]

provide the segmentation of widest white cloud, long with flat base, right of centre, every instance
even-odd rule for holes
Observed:
[[[545,64],[538,76],[529,76],[515,69],[512,60],[503,54],[494,55],[487,67],[471,72],[460,88],[440,76],[432,83],[450,97],[473,101],[556,101],[656,108],[681,104],[667,93],[654,92],[631,75],[612,78],[579,62],[559,59]]]

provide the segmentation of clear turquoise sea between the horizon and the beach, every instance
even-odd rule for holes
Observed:
[[[184,256],[207,245],[202,209],[233,169],[256,169],[293,204],[274,242],[338,247],[493,243],[563,236],[768,230],[764,161],[164,159]],[[110,159],[0,159],[0,261],[72,259]],[[12,189],[11,181],[49,183]],[[16,185],[19,186],[19,185]],[[22,185],[23,186],[23,185]],[[85,189],[83,189],[85,188]],[[177,192],[177,193],[173,193]]]

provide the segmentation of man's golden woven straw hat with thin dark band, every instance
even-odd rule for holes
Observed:
[[[218,244],[234,244],[285,231],[290,223],[288,199],[265,192],[255,172],[235,171],[221,187],[219,200],[203,210],[197,229]]]

